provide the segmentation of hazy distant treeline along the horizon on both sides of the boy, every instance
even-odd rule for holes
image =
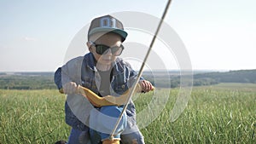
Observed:
[[[179,72],[143,72],[143,77],[160,88],[180,86]],[[56,89],[54,72],[0,72],[0,89]],[[193,76],[193,85],[211,85],[219,83],[253,83],[256,84],[256,70],[239,70],[230,72],[205,72]]]

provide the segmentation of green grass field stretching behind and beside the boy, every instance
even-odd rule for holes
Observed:
[[[164,111],[142,130],[147,144],[256,143],[256,84],[194,87],[188,107],[171,122],[177,92],[172,89]],[[140,95],[137,112],[151,98],[152,93]],[[0,144],[67,140],[64,102],[57,90],[0,89]]]

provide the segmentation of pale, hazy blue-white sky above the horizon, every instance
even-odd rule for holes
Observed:
[[[54,72],[64,64],[73,38],[93,18],[123,11],[160,18],[166,2],[0,0],[0,72]],[[172,0],[165,22],[183,41],[194,70],[256,69],[255,6],[254,0]],[[150,42],[138,36],[132,41]],[[175,54],[170,60],[169,54],[158,55],[175,61]],[[178,69],[171,63],[167,69]]]

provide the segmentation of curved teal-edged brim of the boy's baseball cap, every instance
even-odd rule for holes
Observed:
[[[114,33],[117,33],[119,36],[122,37],[122,39],[123,39],[122,41],[125,41],[125,38],[128,35],[128,33],[125,32],[122,29],[109,28],[109,27],[98,27],[98,28],[95,28],[95,29],[91,30],[90,33],[89,33],[89,36],[94,34],[94,33],[97,33],[97,32],[114,32]]]

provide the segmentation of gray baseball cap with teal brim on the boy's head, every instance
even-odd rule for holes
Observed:
[[[121,21],[111,15],[97,17],[90,23],[88,37],[96,32],[114,32],[122,37],[122,42],[125,41],[128,33],[124,31],[124,26]]]

